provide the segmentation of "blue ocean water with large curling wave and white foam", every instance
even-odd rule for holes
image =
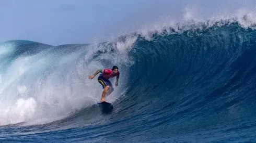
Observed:
[[[3,42],[0,142],[255,142],[254,29],[217,21],[98,44]],[[113,109],[101,110],[102,87],[87,77],[114,65]]]

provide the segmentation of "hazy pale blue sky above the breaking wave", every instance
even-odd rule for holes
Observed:
[[[256,1],[0,0],[0,42],[30,40],[61,45],[106,41],[145,25],[182,20],[188,8],[194,9],[194,17],[207,18],[256,9]]]

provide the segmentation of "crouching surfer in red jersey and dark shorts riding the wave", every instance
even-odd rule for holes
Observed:
[[[94,75],[90,75],[88,79],[94,79],[94,77],[98,74],[101,73],[100,76],[98,77],[98,82],[102,85],[103,87],[103,92],[101,95],[100,101],[106,101],[106,96],[110,95],[114,88],[112,87],[111,82],[109,81],[109,78],[117,76],[117,81],[115,82],[115,86],[118,86],[118,80],[119,80],[119,71],[117,66],[113,66],[112,70],[110,69],[102,69],[102,70],[97,70]]]

